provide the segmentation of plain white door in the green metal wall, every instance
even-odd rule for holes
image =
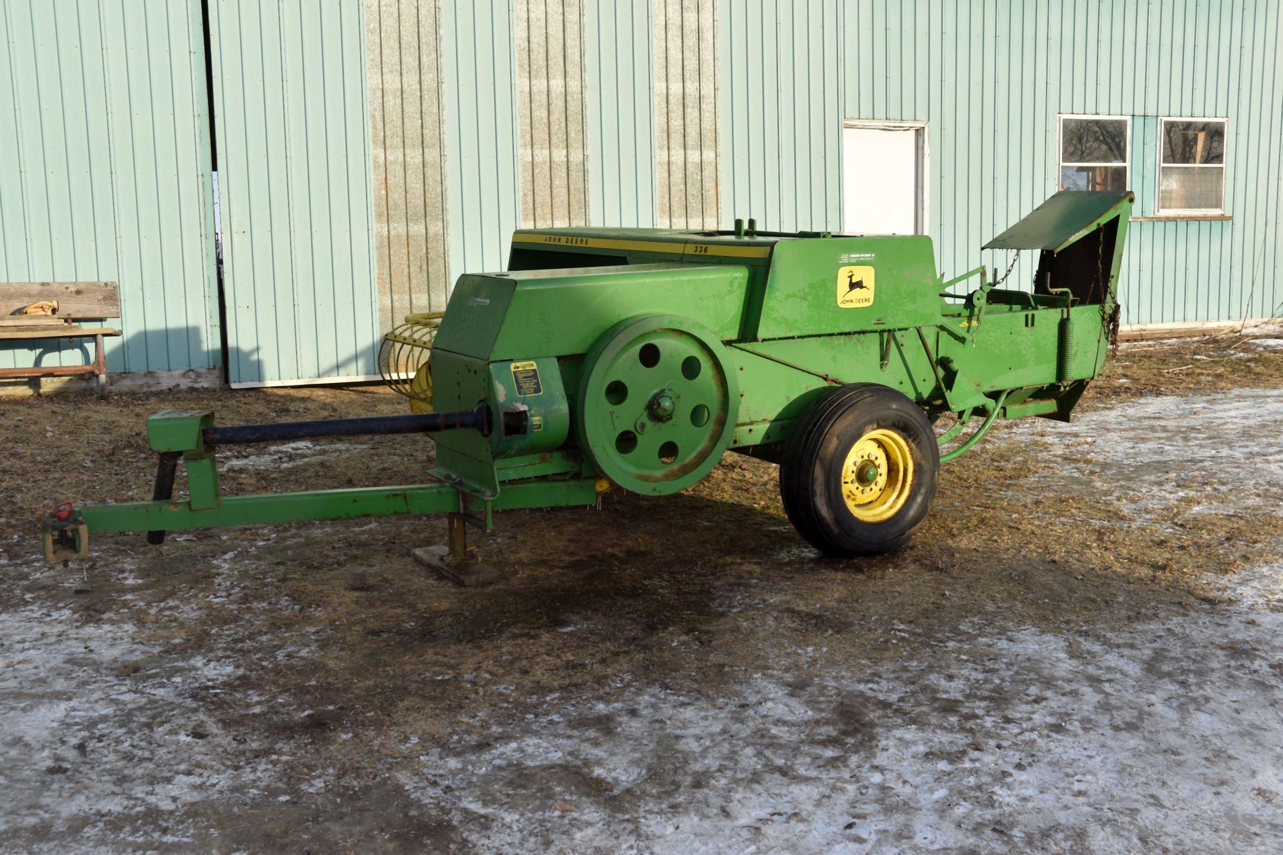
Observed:
[[[922,235],[926,222],[924,128],[858,124],[842,129],[842,231]]]

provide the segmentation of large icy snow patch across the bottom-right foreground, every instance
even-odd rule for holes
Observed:
[[[1237,585],[1121,632],[976,623],[861,674],[816,651],[557,705],[403,779],[482,851],[1279,851],[1283,567]]]

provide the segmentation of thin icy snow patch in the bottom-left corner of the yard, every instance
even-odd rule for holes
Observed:
[[[263,792],[262,746],[205,709],[230,660],[171,655],[144,632],[38,604],[0,617],[0,851],[181,851],[183,809]]]

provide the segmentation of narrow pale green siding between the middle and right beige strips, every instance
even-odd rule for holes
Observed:
[[[589,219],[656,224],[654,67],[649,0],[586,0]]]

